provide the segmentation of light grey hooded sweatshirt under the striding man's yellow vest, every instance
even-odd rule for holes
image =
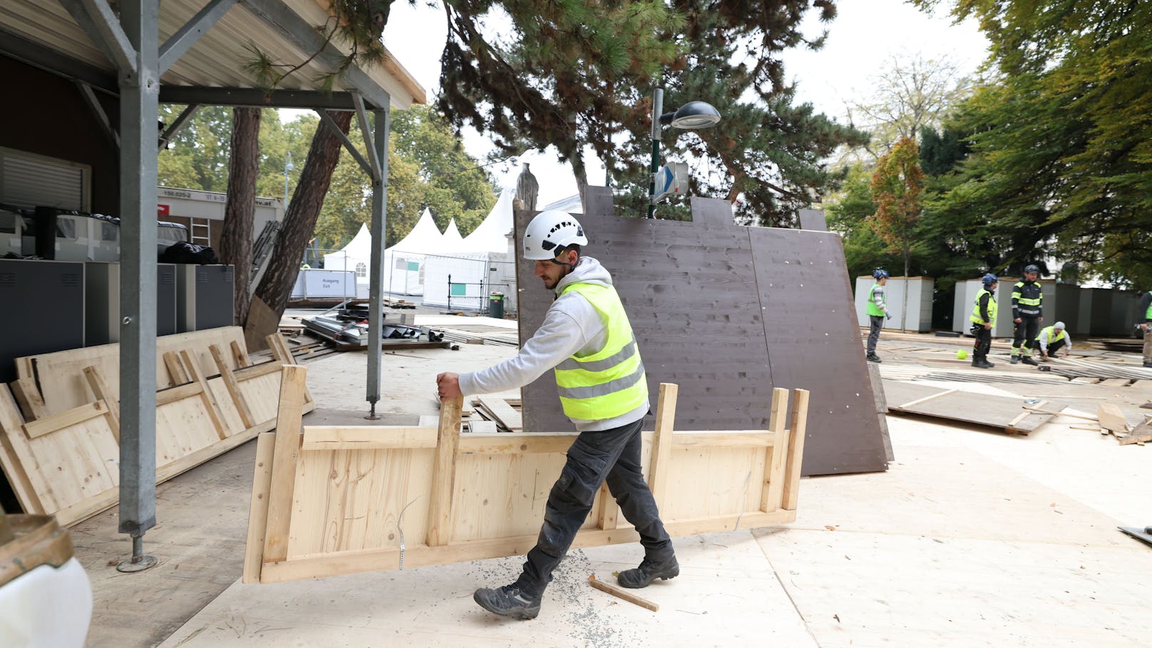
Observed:
[[[592,257],[582,257],[576,268],[556,284],[560,294],[570,284],[597,284],[611,286],[612,276]],[[576,292],[561,295],[552,302],[544,315],[544,324],[536,331],[516,357],[506,360],[487,369],[460,375],[460,391],[464,395],[495,393],[522,387],[575,355],[600,351],[608,339],[608,329],[600,314],[583,295]],[[559,405],[559,402],[556,404]],[[649,404],[614,419],[584,421],[571,419],[576,429],[583,431],[608,430],[627,425],[644,417]],[[544,430],[559,431],[559,430]]]

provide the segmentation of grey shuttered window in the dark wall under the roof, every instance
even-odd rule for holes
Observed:
[[[89,211],[91,167],[0,148],[0,203]]]

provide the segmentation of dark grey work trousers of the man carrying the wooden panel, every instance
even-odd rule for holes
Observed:
[[[536,547],[528,552],[524,573],[516,585],[539,596],[552,581],[552,570],[568,552],[573,538],[592,510],[592,499],[605,479],[620,511],[641,535],[644,552],[653,560],[672,556],[672,541],[664,529],[655,499],[641,472],[641,427],[644,420],[602,431],[581,432],[568,449],[568,462],[548,493],[544,526]]]

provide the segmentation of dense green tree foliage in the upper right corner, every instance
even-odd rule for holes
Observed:
[[[1147,282],[1152,5],[957,0],[953,13],[980,21],[1001,77],[954,118],[971,155],[927,210],[988,268],[1055,255]]]

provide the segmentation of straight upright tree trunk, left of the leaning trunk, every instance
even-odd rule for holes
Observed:
[[[259,163],[260,108],[233,108],[228,202],[223,208],[223,228],[220,232],[220,263],[230,263],[236,268],[233,281],[233,312],[236,323],[243,323],[248,318]]]

